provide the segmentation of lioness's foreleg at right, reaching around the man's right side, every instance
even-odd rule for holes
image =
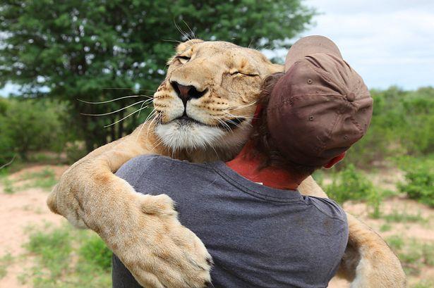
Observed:
[[[301,194],[327,197],[312,177],[299,186]],[[349,225],[348,246],[338,276],[351,282],[352,288],[400,288],[406,278],[401,263],[381,237],[368,225],[346,213]]]

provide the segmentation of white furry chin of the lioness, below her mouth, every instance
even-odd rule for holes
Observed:
[[[216,146],[227,134],[218,127],[198,123],[179,123],[178,121],[159,124],[155,128],[155,132],[164,146],[174,151],[179,149],[207,149]]]

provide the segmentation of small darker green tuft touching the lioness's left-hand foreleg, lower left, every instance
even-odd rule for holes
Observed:
[[[83,257],[83,261],[97,265],[107,272],[110,271],[112,252],[97,234],[92,234],[84,239],[79,254]]]

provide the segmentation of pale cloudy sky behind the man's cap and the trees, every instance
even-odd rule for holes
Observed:
[[[320,14],[301,36],[332,39],[369,88],[434,86],[434,0],[303,2]],[[275,51],[267,56],[286,53]],[[0,95],[17,89],[8,84]]]

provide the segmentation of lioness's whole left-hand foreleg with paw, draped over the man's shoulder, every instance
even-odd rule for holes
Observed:
[[[131,158],[152,153],[138,132],[74,164],[54,187],[48,205],[73,225],[97,232],[144,287],[207,287],[210,254],[179,223],[169,196],[136,193],[114,175]]]

